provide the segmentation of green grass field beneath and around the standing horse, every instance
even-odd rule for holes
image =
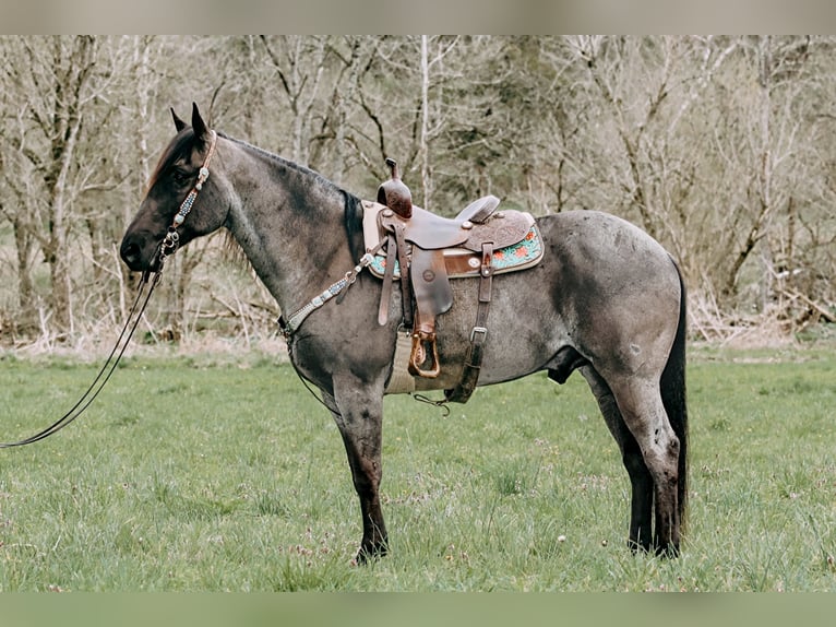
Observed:
[[[95,365],[0,359],[0,439]],[[76,423],[0,451],[0,591],[836,591],[836,355],[692,351],[683,555],[625,548],[629,484],[580,376],[387,398],[391,555],[331,417],[271,357],[128,358]]]

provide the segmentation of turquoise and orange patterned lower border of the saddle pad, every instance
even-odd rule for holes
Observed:
[[[542,259],[542,240],[537,225],[532,225],[526,236],[512,246],[493,251],[491,265],[494,274],[525,270],[539,263]],[[480,256],[466,248],[451,248],[444,251],[444,262],[450,279],[478,276],[481,264]],[[383,279],[386,271],[386,256],[378,252],[369,265],[372,274]],[[401,264],[395,261],[394,277],[401,279]]]

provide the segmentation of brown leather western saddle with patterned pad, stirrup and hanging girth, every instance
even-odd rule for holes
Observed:
[[[378,322],[387,323],[393,282],[399,280],[403,326],[411,332],[408,372],[435,378],[441,374],[435,317],[453,305],[450,279],[478,276],[476,321],[462,379],[444,392],[446,401],[464,403],[481,369],[492,277],[539,262],[537,226],[528,213],[495,211],[500,201],[494,196],[471,202],[454,218],[430,213],[413,204],[396,162],[387,158],[386,165],[391,178],[378,189],[378,201],[363,201],[366,248],[378,251],[371,270],[383,280]]]

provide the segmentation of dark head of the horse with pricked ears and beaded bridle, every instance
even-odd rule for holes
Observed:
[[[174,109],[171,115],[177,135],[163,152],[120,247],[122,260],[134,271],[158,270],[164,242],[174,252],[177,246],[224,226],[229,211],[218,161],[208,176],[216,133],[206,127],[198,105],[192,105],[191,126]]]

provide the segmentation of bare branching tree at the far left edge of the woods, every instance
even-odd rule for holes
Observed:
[[[4,40],[4,82],[16,94],[20,132],[9,138],[7,155],[19,181],[27,187],[17,228],[34,238],[50,269],[50,305],[55,326],[71,329],[69,238],[74,202],[99,184],[94,166],[79,158],[85,141],[88,105],[100,94],[94,37],[11,38]],[[11,150],[9,150],[11,149]],[[19,257],[20,258],[20,257]]]

